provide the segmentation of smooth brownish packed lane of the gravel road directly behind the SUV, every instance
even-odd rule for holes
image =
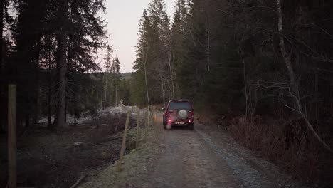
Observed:
[[[153,187],[241,187],[196,131],[164,130],[160,150]]]

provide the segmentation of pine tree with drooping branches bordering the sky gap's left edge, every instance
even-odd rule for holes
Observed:
[[[68,3],[70,3],[70,9],[68,9]],[[67,79],[70,78],[68,74],[81,74],[99,70],[99,66],[95,63],[94,54],[97,52],[98,48],[102,46],[102,40],[105,38],[104,23],[101,21],[100,17],[97,16],[98,11],[105,10],[103,0],[74,0],[70,2],[67,1],[63,4],[67,6],[66,9],[64,9],[67,14],[65,14],[63,19],[60,19],[65,21],[65,23],[60,24],[60,28],[63,27],[60,31],[62,35],[68,35],[69,39],[68,46],[65,46],[63,43],[59,43],[59,41],[62,40],[58,38],[58,54],[63,54],[63,56],[58,55],[58,65],[61,65],[64,58],[65,60],[67,59],[67,65],[64,65],[68,66],[68,68],[60,68],[60,95],[58,98],[59,104],[56,116],[56,125],[59,126],[65,126],[65,108],[63,106],[66,101],[66,95],[68,95],[66,87],[70,86],[66,85],[66,80],[68,80],[68,83],[72,82],[72,80]],[[63,13],[63,11],[61,12]],[[56,19],[56,23],[59,23],[57,21],[59,21],[59,19]],[[59,48],[59,44],[63,45],[62,47],[65,49],[65,52],[68,52],[68,56],[65,56],[62,48]],[[63,83],[63,85],[61,85],[61,83]],[[75,84],[76,83],[71,83],[71,85]]]

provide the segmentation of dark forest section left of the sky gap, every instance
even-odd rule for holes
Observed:
[[[118,92],[128,103],[128,81],[120,76],[120,60],[112,57],[105,23],[97,16],[105,11],[104,1],[4,0],[1,5],[1,129],[6,129],[8,83],[17,85],[18,127],[36,126],[41,115],[48,115],[50,127],[66,127],[65,114],[114,105]],[[100,49],[107,52],[105,67],[97,63]]]

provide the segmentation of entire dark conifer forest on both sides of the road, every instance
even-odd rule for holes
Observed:
[[[260,156],[305,181],[328,181],[333,1],[174,4],[172,16],[163,0],[142,10],[134,72],[125,79],[99,16],[104,0],[1,0],[1,132],[9,83],[17,85],[18,133],[41,116],[54,129],[68,127],[67,114],[93,115],[120,100],[149,109],[189,98],[198,118]]]

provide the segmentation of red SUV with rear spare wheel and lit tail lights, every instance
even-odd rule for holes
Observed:
[[[187,126],[194,130],[194,110],[193,106],[187,99],[170,100],[163,114],[163,127],[166,129],[175,125]]]

